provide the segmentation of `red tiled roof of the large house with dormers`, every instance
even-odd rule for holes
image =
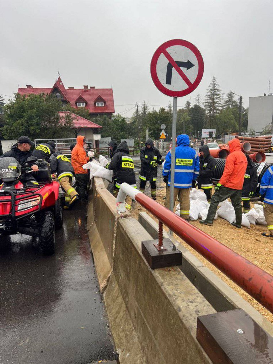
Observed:
[[[54,86],[59,88],[72,107],[77,107],[75,102],[79,96],[82,96],[87,101],[87,110],[89,110],[92,114],[113,114],[115,112],[112,88],[87,88],[86,90],[84,88],[65,88],[60,77],[56,83],[54,83]],[[50,94],[53,89],[54,87],[19,87],[18,93],[20,95],[39,95],[42,93]],[[95,100],[99,96],[106,101],[104,106],[95,106]]]

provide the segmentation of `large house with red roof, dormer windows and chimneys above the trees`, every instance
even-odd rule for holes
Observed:
[[[64,105],[70,104],[74,108],[86,108],[92,117],[106,114],[111,118],[115,112],[112,88],[95,88],[95,86],[88,88],[88,85],[84,85],[83,88],[65,88],[60,76],[50,88],[26,86],[19,87],[18,94],[54,94]]]

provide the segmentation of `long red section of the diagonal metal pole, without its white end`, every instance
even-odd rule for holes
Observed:
[[[135,200],[273,313],[273,277],[144,193]]]

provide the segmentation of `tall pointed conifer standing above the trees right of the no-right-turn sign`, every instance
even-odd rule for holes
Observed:
[[[222,91],[217,82],[217,79],[213,76],[203,106],[207,113],[207,126],[211,128],[215,123],[215,117],[219,114],[222,105]]]

